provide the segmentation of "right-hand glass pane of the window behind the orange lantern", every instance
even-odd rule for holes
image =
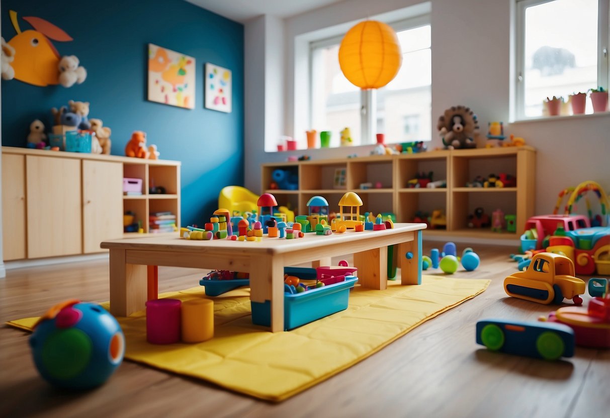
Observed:
[[[377,91],[377,132],[387,143],[431,140],[432,65],[430,26],[397,33],[403,65]]]

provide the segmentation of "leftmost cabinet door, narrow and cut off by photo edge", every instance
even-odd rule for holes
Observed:
[[[26,258],[26,157],[2,154],[4,261]]]

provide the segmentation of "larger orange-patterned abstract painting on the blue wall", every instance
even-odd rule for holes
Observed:
[[[148,100],[195,108],[195,58],[148,44]]]

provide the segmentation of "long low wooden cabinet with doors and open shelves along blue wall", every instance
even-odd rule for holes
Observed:
[[[142,195],[124,196],[124,177],[142,179]],[[125,211],[144,234],[123,233]],[[179,161],[2,147],[4,260],[103,252],[106,239],[145,236],[156,211],[180,225]]]

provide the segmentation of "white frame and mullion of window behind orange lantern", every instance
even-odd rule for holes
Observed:
[[[384,21],[379,19],[380,21]],[[423,13],[417,16],[410,16],[395,21],[384,21],[394,29],[395,32],[402,32],[403,30],[416,29],[422,26],[432,26],[431,13]],[[314,50],[320,48],[326,48],[328,46],[338,45],[343,40],[346,31],[332,37],[325,37],[309,41],[308,50],[308,61],[309,68],[309,89],[307,91],[307,100],[309,102],[308,107],[308,122],[309,126],[313,126],[314,122]],[[430,49],[432,49],[432,43],[430,43]],[[432,86],[432,82],[430,83]],[[432,87],[431,87],[432,88]],[[376,143],[375,133],[377,127],[377,109],[376,109],[376,90],[361,90],[360,94],[360,122],[361,122],[361,145],[373,145]],[[364,141],[367,138],[367,141]]]

